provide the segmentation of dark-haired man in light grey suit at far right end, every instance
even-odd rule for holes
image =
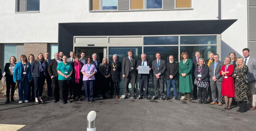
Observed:
[[[256,79],[256,59],[250,56],[250,50],[248,48],[243,49],[244,64],[248,67],[250,73],[253,73]],[[256,92],[255,92],[255,81],[248,83],[249,92],[251,93],[252,107],[249,110],[255,110],[256,104]]]

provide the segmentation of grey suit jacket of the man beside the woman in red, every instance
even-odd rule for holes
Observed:
[[[223,64],[224,64],[223,62],[219,61],[216,66],[215,77],[218,82],[221,82],[223,80],[223,76],[219,74],[219,72],[221,72],[221,67],[223,66]],[[210,81],[213,81],[212,80],[213,72],[214,72],[213,67],[214,67],[214,61],[210,63],[210,68],[209,68]]]

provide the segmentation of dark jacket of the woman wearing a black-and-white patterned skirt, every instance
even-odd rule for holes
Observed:
[[[202,82],[205,82],[205,81],[209,81],[209,68],[207,65],[203,65],[202,66],[202,70],[201,70],[201,77],[198,77],[198,75],[200,74],[198,72],[198,67],[196,67],[195,69],[195,78],[198,80],[199,78],[201,79]]]

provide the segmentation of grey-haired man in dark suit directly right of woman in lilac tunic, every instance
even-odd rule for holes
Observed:
[[[93,87],[93,94],[94,94],[94,97],[99,97],[97,93],[98,93],[98,89],[100,88],[100,61],[97,59],[96,53],[94,53],[91,57],[93,57],[93,60],[91,61],[91,63],[94,64],[97,70],[97,73],[94,74],[95,84]]]

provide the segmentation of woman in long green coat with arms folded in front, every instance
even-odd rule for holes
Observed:
[[[179,89],[185,95],[183,100],[190,101],[190,93],[192,92],[192,66],[193,62],[188,58],[187,52],[181,53],[181,61],[179,63]]]

